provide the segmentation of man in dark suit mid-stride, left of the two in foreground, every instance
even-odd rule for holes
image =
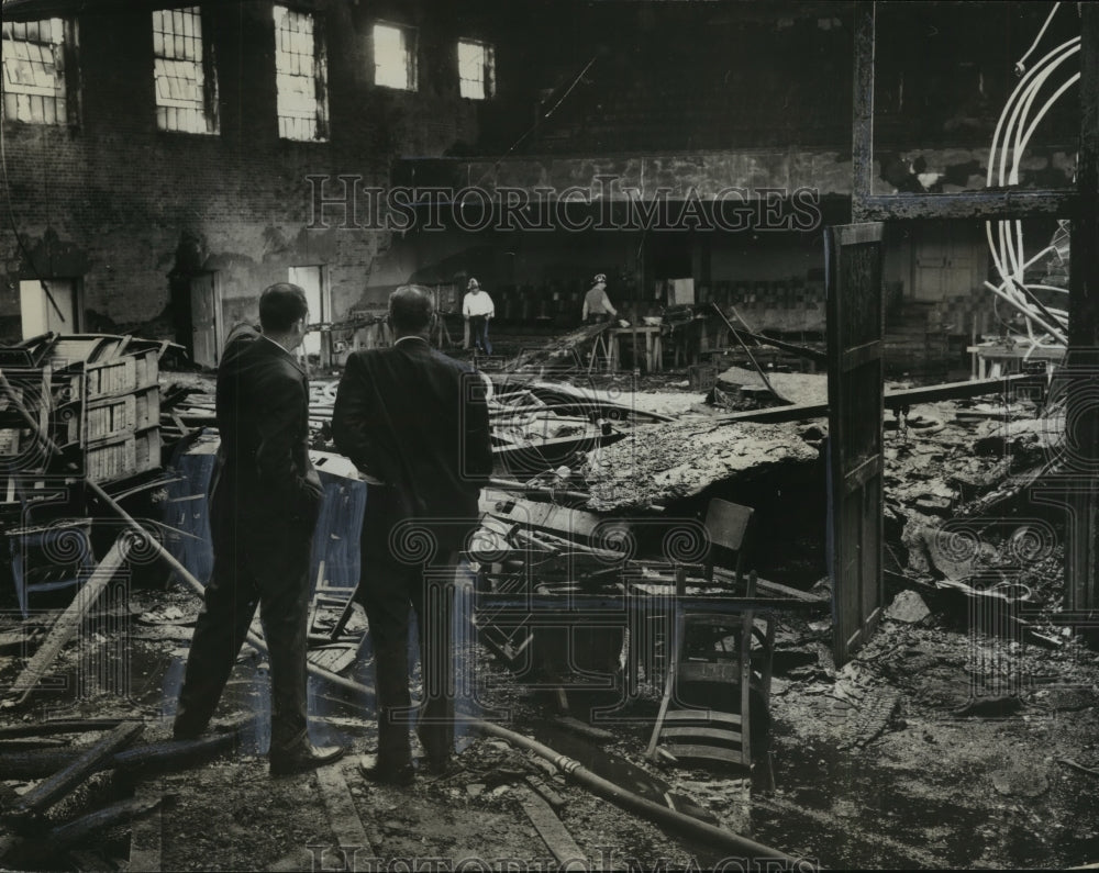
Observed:
[[[213,573],[191,640],[173,734],[201,734],[259,606],[269,649],[273,775],[334,761],[306,726],[306,622],[309,558],[321,505],[310,463],[309,381],[291,354],[306,336],[308,305],[298,286],[259,298],[262,333],[237,328],[218,368],[221,446],[210,483]]]

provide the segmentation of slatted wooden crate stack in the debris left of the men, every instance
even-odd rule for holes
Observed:
[[[121,337],[66,337],[54,349],[52,434],[79,448],[89,481],[160,466],[159,355],[158,344]]]

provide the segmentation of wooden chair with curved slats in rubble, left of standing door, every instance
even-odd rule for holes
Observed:
[[[719,560],[732,558],[735,591],[740,593],[743,586],[747,598],[755,596],[755,573],[750,573],[746,580],[743,575],[743,547],[752,516],[753,510],[747,506],[714,500],[706,519],[711,536],[707,578],[713,579]],[[766,712],[770,698],[774,624],[767,618],[761,629],[751,608],[745,608],[739,617],[688,611],[682,605],[686,594],[687,573],[680,567],[676,570],[676,605],[664,696],[645,754],[654,761],[704,759],[751,770],[752,699],[754,694],[758,695]],[[718,641],[730,637],[735,640],[734,651],[719,651]],[[689,699],[692,690],[697,698],[707,703]],[[732,712],[732,706],[721,706],[731,702],[730,695],[736,691],[739,712]]]

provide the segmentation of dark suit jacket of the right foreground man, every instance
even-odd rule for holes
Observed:
[[[492,473],[478,373],[419,338],[353,352],[336,392],[332,435],[356,467],[404,492],[403,508],[378,489],[368,492],[365,526],[385,524],[382,516],[391,526],[417,503],[418,516],[447,519],[436,535],[446,547],[460,547]],[[381,540],[376,545],[382,548]]]

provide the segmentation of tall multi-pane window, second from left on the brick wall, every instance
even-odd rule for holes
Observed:
[[[153,12],[156,126],[162,131],[218,133],[217,77],[203,42],[198,7]]]

